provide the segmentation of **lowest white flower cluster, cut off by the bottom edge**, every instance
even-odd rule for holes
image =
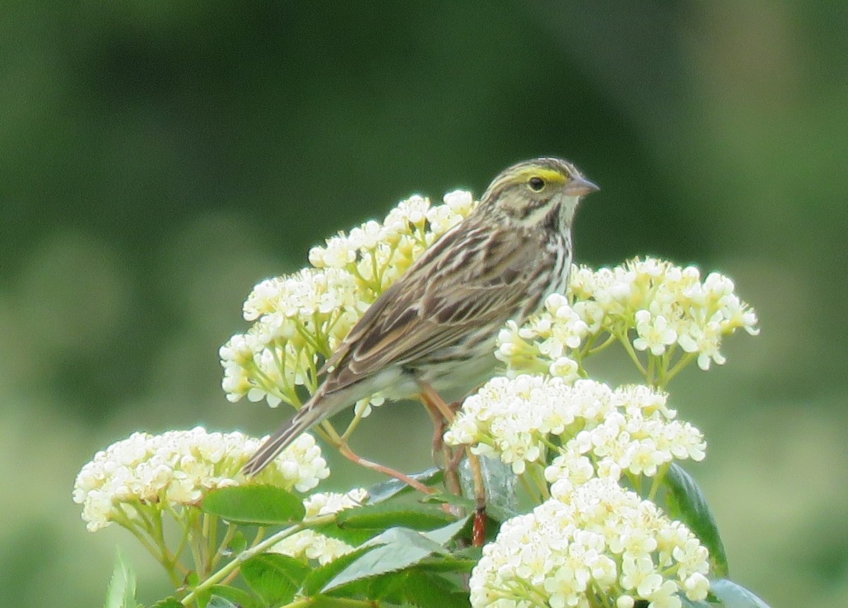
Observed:
[[[471,572],[471,605],[680,608],[682,595],[706,599],[708,557],[652,502],[595,478],[501,526]]]

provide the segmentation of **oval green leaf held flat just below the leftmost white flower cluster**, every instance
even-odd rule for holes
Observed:
[[[201,508],[228,522],[285,526],[299,522],[306,511],[291,492],[273,485],[243,485],[209,492]]]

